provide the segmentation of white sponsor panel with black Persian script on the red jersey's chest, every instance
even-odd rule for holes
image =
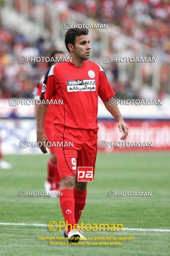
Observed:
[[[95,80],[82,79],[82,80],[67,80],[67,92],[73,91],[95,91]]]

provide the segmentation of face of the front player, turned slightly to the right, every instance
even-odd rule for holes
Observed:
[[[82,59],[88,60],[90,54],[90,45],[89,45],[89,36],[81,35],[79,37],[75,37],[75,46],[73,47],[73,54]]]

